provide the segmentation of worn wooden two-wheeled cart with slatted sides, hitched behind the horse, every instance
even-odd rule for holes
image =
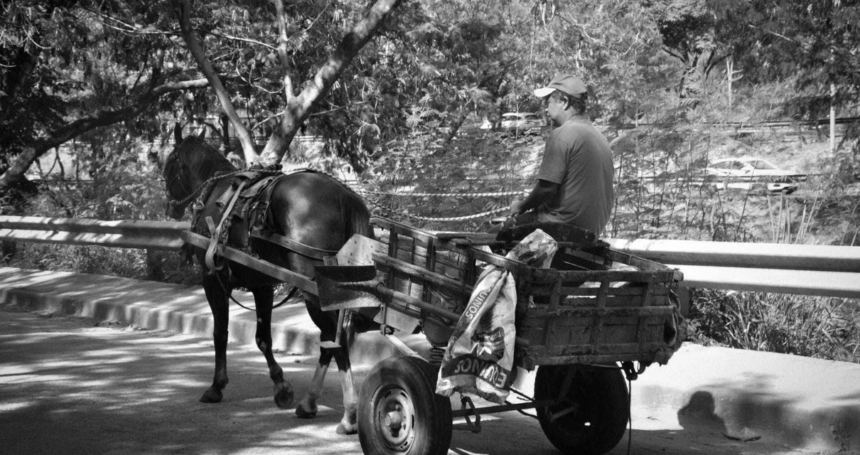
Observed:
[[[554,268],[538,269],[491,252],[510,247],[516,235],[496,240],[372,223],[376,239],[354,237],[337,266],[318,267],[323,307],[367,313],[384,334],[420,330],[432,348],[422,358],[390,337],[407,355],[377,364],[361,388],[364,453],[444,454],[452,419],[465,417],[475,431],[482,414],[528,408],[563,453],[605,453],[628,422],[625,374],[634,379],[645,366],[665,363],[682,339],[673,298],[681,273],[612,250],[587,231],[542,226],[560,248]],[[439,360],[487,265],[515,277],[516,365],[538,367],[535,396],[483,408],[464,397],[463,408],[452,410],[449,398],[435,394]]]

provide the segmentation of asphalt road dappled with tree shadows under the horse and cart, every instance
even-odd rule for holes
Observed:
[[[316,359],[277,355],[301,397]],[[200,337],[0,306],[0,453],[361,453],[357,436],[335,433],[342,413],[336,371],[317,418],[302,420],[275,407],[265,361],[249,347],[230,346],[224,401],[199,403],[212,356],[211,342]],[[358,369],[358,383],[366,372]],[[633,454],[817,453],[732,440],[713,419],[682,419],[681,426],[670,412],[633,409],[633,416]],[[483,428],[455,431],[449,454],[558,453],[537,422],[518,413],[487,416]],[[610,453],[628,453],[626,437]]]

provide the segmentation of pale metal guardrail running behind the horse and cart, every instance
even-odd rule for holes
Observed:
[[[0,240],[178,250],[188,222],[0,216]],[[829,245],[607,239],[612,248],[676,267],[681,286],[860,298],[860,248]]]

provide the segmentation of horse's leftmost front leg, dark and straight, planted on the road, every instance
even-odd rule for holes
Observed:
[[[230,297],[230,291],[224,289],[215,275],[206,275],[203,278],[203,289],[206,291],[206,300],[209,301],[212,318],[215,320],[215,329],[212,331],[215,342],[215,376],[212,379],[212,386],[203,393],[200,401],[218,403],[224,397],[221,391],[229,382],[227,379],[227,323],[229,321],[227,299]]]

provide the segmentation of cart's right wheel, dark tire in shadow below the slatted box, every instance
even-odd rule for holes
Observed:
[[[570,375],[567,390],[565,381]],[[562,453],[601,455],[624,436],[630,408],[621,370],[585,365],[545,365],[535,378],[536,400],[558,400],[537,408],[549,441]]]

